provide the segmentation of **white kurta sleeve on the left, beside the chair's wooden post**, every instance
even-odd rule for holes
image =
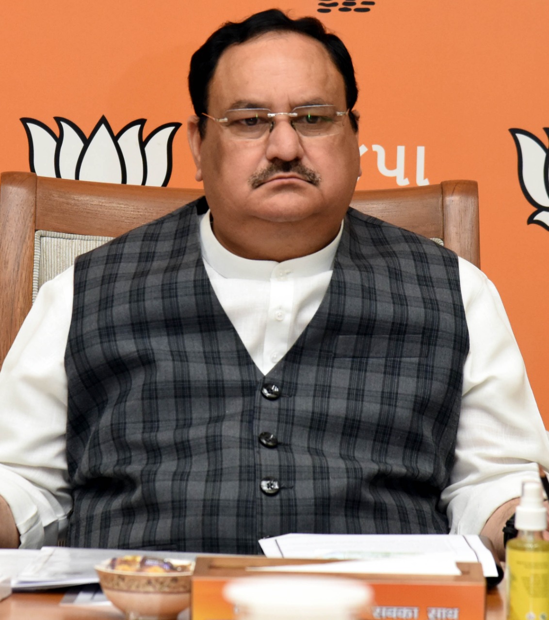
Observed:
[[[71,508],[65,348],[73,268],[45,283],[0,371],[0,495],[21,547],[57,544]]]

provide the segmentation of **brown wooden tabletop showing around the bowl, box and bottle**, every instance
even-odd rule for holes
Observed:
[[[0,602],[0,620],[120,620],[122,612],[107,608],[60,607],[63,593],[15,593]],[[504,620],[504,583],[488,590],[486,620]]]

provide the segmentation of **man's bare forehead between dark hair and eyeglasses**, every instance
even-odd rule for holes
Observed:
[[[322,43],[293,32],[273,32],[229,47],[209,86],[209,108],[307,103],[345,105],[345,84]]]

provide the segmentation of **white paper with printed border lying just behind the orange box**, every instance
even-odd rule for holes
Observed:
[[[424,570],[432,556],[451,557],[454,562],[481,562],[485,577],[497,577],[496,563],[478,536],[456,534],[285,534],[261,539],[261,549],[267,557],[291,557],[310,559],[361,560],[375,563],[384,560],[396,562],[392,572],[401,569],[414,574],[414,564]],[[481,553],[481,547],[486,550]],[[425,558],[425,556],[427,556]],[[480,556],[480,557],[479,557]],[[422,560],[423,558],[423,560]],[[426,561],[424,561],[426,560]],[[441,557],[441,561],[445,562]],[[398,567],[399,570],[396,570]],[[421,568],[419,568],[421,567]],[[391,572],[390,569],[388,569]],[[415,574],[425,574],[415,573]],[[430,574],[442,574],[430,571]]]

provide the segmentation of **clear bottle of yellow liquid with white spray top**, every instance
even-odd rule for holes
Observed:
[[[506,546],[507,620],[549,620],[549,541],[540,482],[524,482],[515,513],[519,535]]]

